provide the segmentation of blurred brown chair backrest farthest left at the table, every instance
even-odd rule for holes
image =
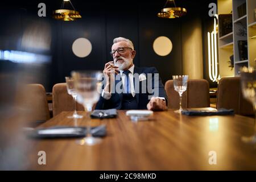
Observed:
[[[50,118],[46,89],[41,84],[28,84],[20,90],[18,102],[25,109],[28,122],[44,122]]]

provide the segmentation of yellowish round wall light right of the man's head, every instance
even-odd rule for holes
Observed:
[[[172,42],[166,36],[159,36],[153,43],[153,49],[159,56],[167,56],[172,51]]]

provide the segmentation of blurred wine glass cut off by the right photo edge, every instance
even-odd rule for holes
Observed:
[[[254,113],[256,112],[256,71],[249,67],[243,67],[240,72],[241,87],[243,97],[253,104]],[[256,114],[256,113],[255,113]],[[254,118],[256,115],[254,116]],[[250,137],[242,137],[242,141],[246,143],[256,143],[256,118],[254,121],[254,134]]]

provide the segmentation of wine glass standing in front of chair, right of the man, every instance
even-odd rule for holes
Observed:
[[[174,89],[179,93],[180,96],[180,109],[176,110],[175,113],[181,113],[182,94],[185,92],[185,90],[187,90],[188,75],[174,75],[172,76],[172,79],[174,80]]]

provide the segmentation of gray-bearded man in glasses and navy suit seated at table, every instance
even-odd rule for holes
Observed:
[[[167,110],[167,95],[158,71],[133,64],[136,51],[131,40],[115,38],[110,54],[113,61],[105,64],[106,84],[96,109]]]

